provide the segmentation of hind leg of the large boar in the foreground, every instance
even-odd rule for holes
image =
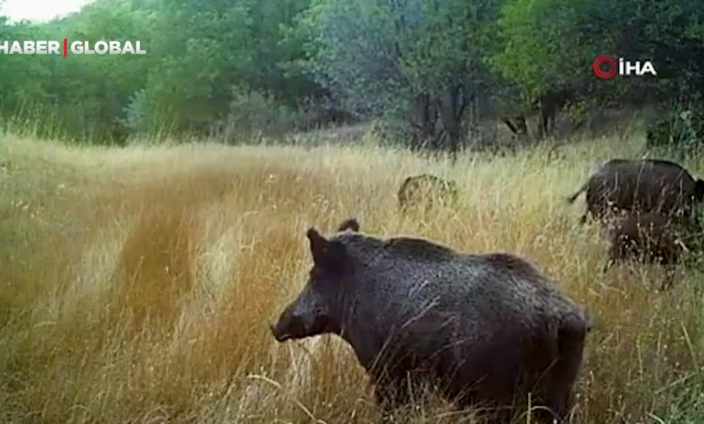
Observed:
[[[582,363],[587,327],[582,322],[565,323],[558,331],[558,357],[542,382],[545,401],[557,422],[565,422],[572,407],[572,386]]]

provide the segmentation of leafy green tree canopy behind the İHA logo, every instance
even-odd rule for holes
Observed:
[[[552,89],[589,84],[599,54],[652,60],[657,78],[599,81],[611,97],[704,92],[704,8],[692,0],[514,0],[502,9],[492,63],[533,102]]]

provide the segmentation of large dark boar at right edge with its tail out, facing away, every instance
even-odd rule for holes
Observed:
[[[569,202],[583,191],[587,193],[587,211],[581,223],[588,215],[606,223],[612,214],[636,211],[698,223],[697,206],[704,199],[704,181],[695,180],[672,161],[615,159],[592,174]]]

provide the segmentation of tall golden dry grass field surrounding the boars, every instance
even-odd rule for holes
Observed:
[[[0,135],[0,422],[376,422],[333,336],[275,343],[305,282],[309,226],[527,258],[588,307],[574,422],[704,422],[700,272],[602,274],[606,246],[568,205],[638,137],[455,165],[373,146],[66,147]],[[704,161],[685,163],[704,173]],[[455,179],[461,205],[399,217],[404,177]],[[471,422],[432,396],[405,422]],[[523,418],[520,422],[528,422]]]

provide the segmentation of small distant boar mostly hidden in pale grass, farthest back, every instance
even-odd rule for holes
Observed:
[[[397,197],[402,212],[412,208],[428,211],[436,205],[448,207],[457,202],[457,182],[431,174],[414,175],[403,180]]]

